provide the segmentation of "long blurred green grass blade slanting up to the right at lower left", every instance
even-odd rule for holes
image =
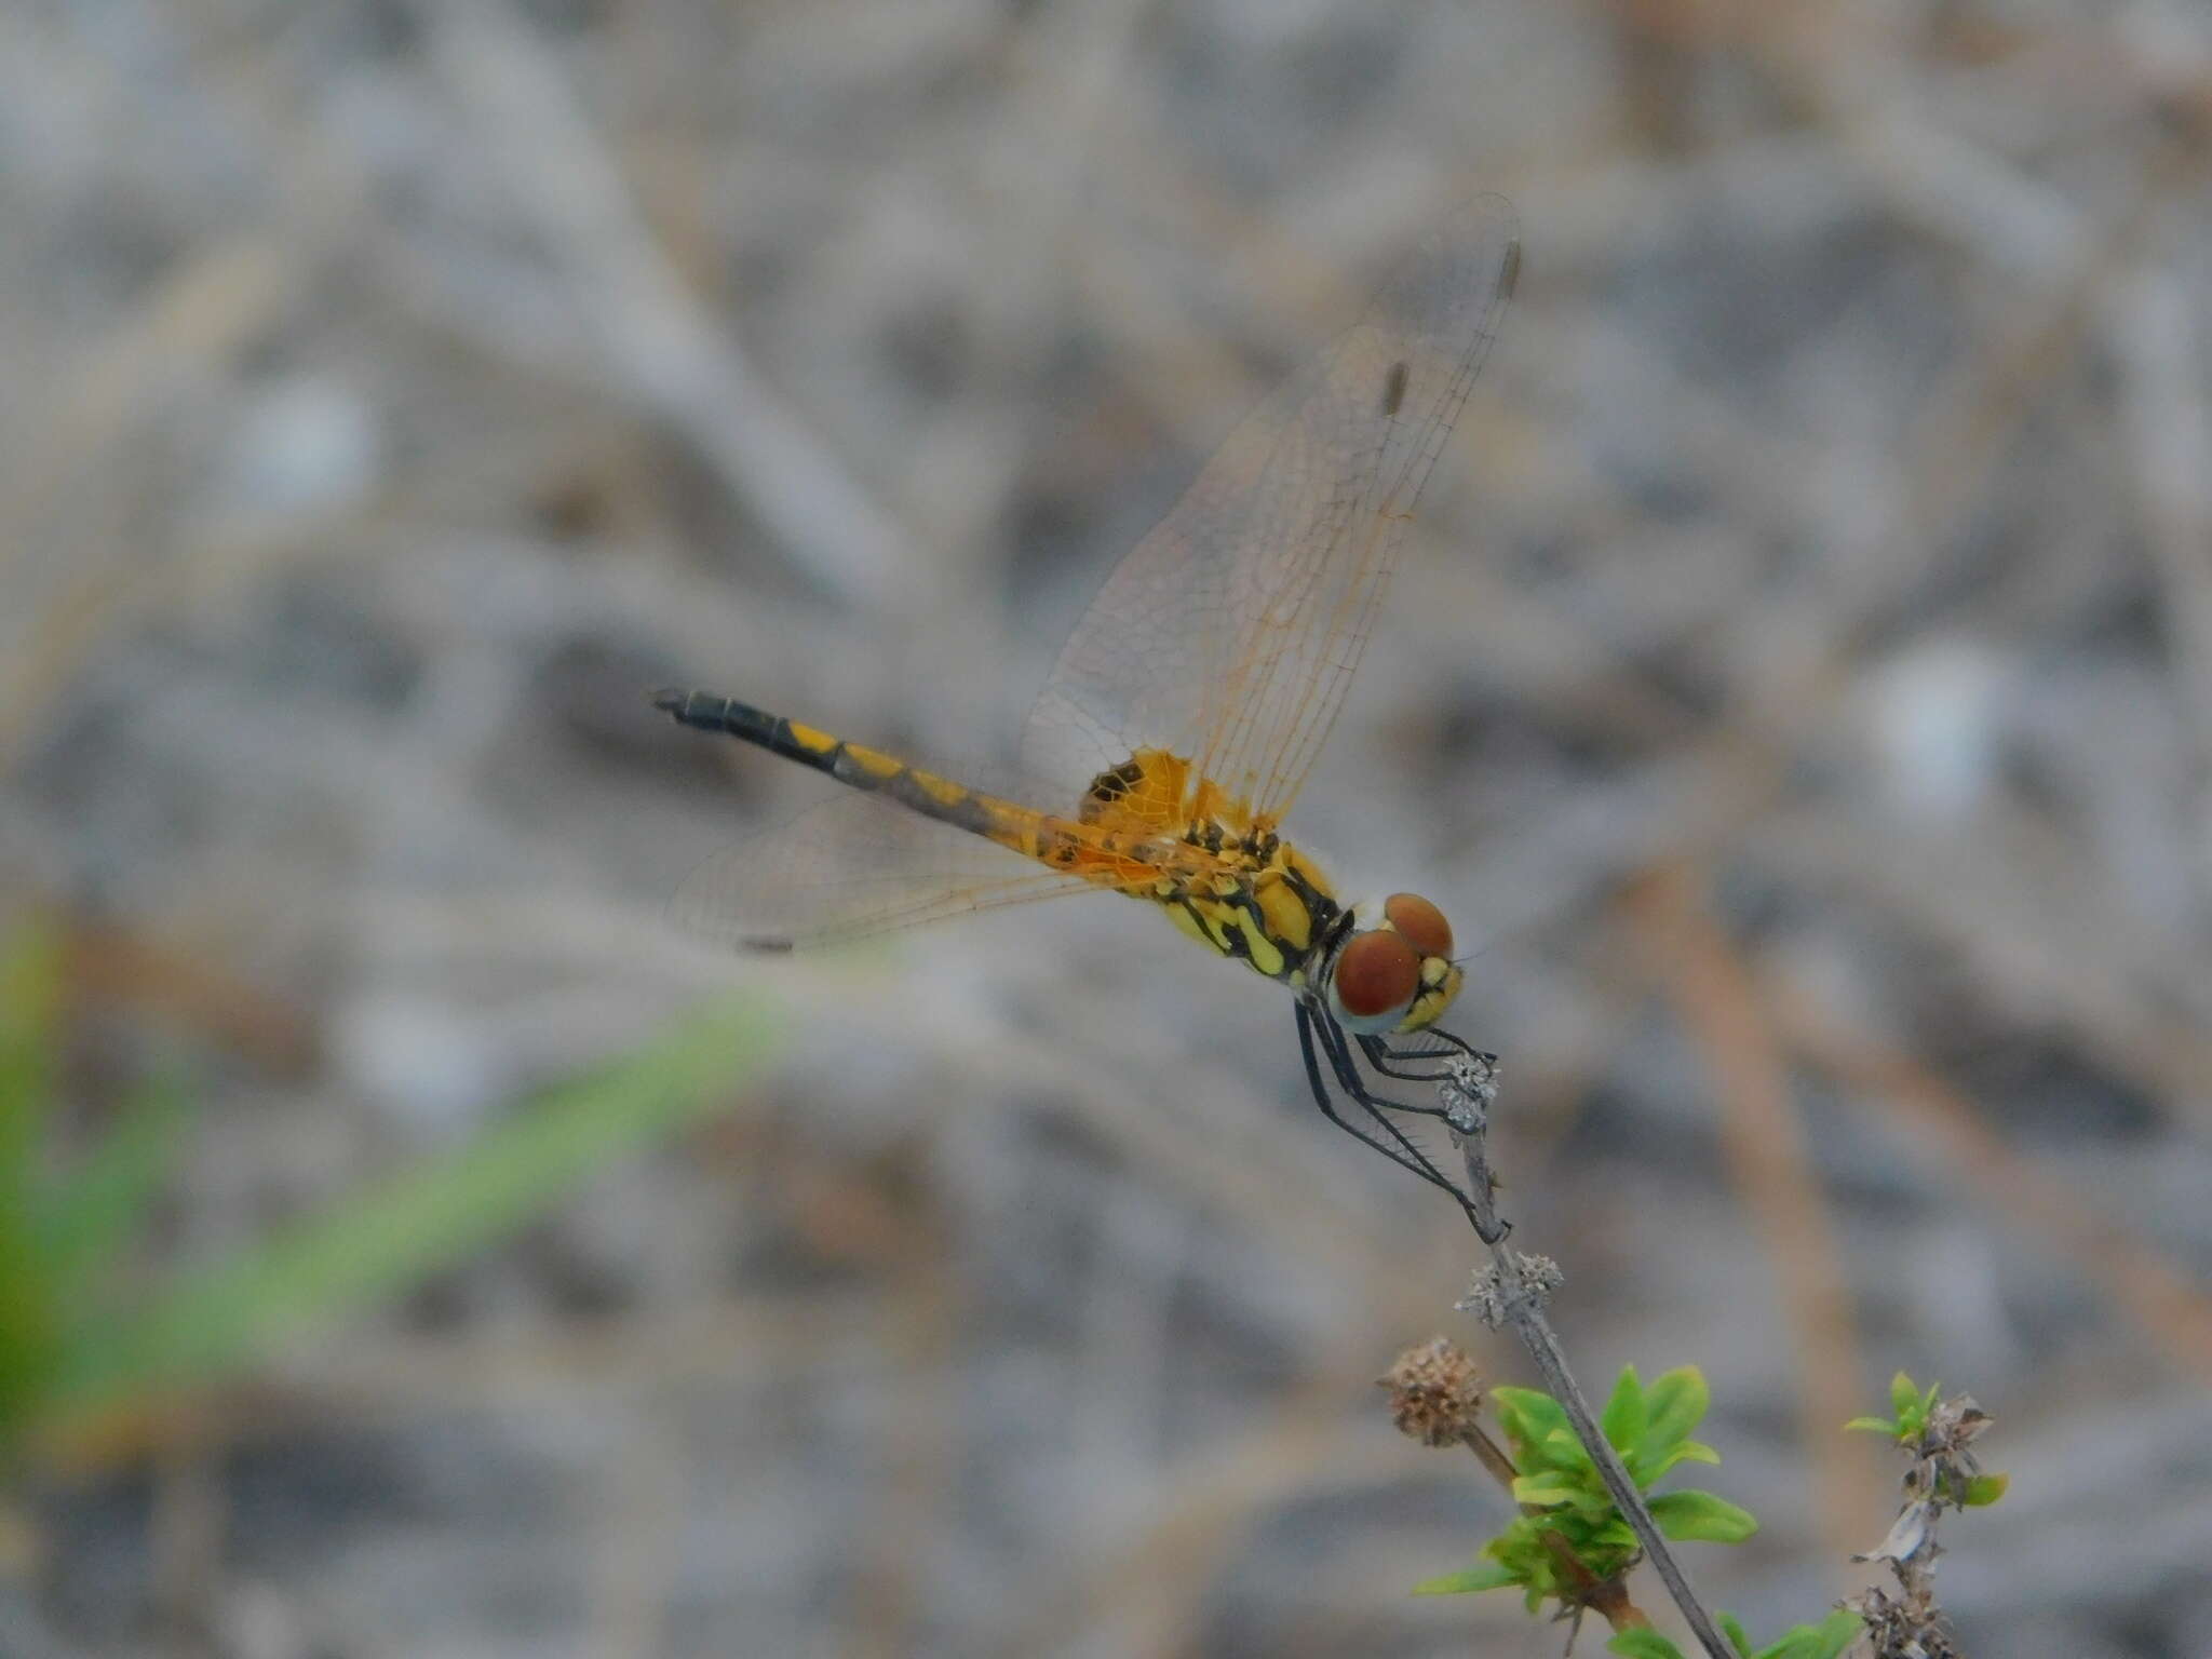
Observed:
[[[546,1210],[608,1159],[728,1102],[776,1031],[765,1009],[695,1020],[595,1077],[555,1088],[453,1157],[407,1170],[102,1321],[71,1356],[75,1407],[206,1383],[299,1327],[389,1296]]]

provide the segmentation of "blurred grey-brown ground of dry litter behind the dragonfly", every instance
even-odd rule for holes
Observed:
[[[1482,190],[1520,299],[1294,827],[1473,949],[1586,1383],[1705,1369],[1712,1601],[1878,1577],[1907,1367],[2013,1475],[1964,1652],[2212,1652],[2208,164],[2197,0],[15,0],[18,1164],[164,1079],[108,1272],[250,1340],[0,1378],[0,1655],[1557,1652],[1407,1595],[1504,1504],[1371,1378],[1531,1378],[1285,998],[1106,900],[688,942],[830,785],[641,699],[989,765]],[[139,1305],[0,1265],[53,1352]]]

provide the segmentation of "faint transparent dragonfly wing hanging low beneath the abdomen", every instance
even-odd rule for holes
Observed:
[[[841,794],[699,865],[670,900],[686,931],[792,951],[1097,887],[872,794]]]

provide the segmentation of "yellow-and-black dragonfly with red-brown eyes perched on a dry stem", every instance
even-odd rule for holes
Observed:
[[[1340,898],[1281,825],[1517,272],[1500,197],[1429,226],[1360,321],[1245,416],[1115,566],[1031,708],[1018,783],[978,787],[734,697],[653,692],[681,726],[849,787],[710,858],[675,918],[792,951],[1073,894],[1155,905],[1287,987],[1321,1113],[1473,1219],[1400,1121],[1464,1128],[1455,1110],[1378,1093],[1464,1075],[1455,1057],[1495,1064],[1436,1024],[1464,980],[1451,925],[1418,894]]]

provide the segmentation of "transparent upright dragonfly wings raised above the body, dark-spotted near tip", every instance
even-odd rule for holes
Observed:
[[[1517,237],[1500,197],[1447,215],[1367,316],[1245,416],[1077,622],[1031,710],[1026,770],[1084,779],[1166,748],[1256,814],[1290,807],[1513,292]]]

